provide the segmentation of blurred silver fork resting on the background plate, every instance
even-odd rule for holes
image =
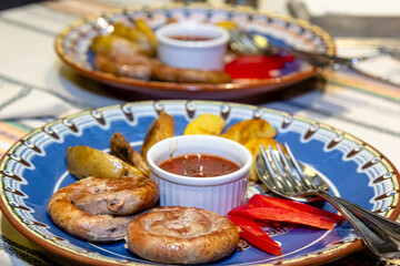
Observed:
[[[294,54],[299,59],[317,68],[340,69],[358,64],[364,58],[340,58],[326,53],[299,50],[290,45],[274,45],[266,37],[252,34],[244,30],[230,30],[230,48],[240,54],[270,54],[279,50]]]

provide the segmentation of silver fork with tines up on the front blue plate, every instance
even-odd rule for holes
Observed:
[[[327,183],[318,175],[304,174],[304,165],[296,160],[289,145],[284,145],[288,154],[279,145],[278,152],[271,146],[267,151],[261,146],[256,161],[259,177],[271,192],[303,202],[316,196],[327,200],[351,223],[373,254],[382,259],[400,257],[400,224],[330,195]]]

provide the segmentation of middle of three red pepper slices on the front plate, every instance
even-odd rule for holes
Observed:
[[[301,224],[321,229],[333,229],[334,227],[334,223],[322,216],[279,207],[251,207],[242,205],[231,209],[228,214],[267,222]]]

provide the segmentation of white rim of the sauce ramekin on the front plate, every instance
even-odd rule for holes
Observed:
[[[179,140],[187,139],[188,141],[193,141],[200,143],[201,141],[217,141],[220,142],[221,145],[227,145],[231,149],[237,149],[241,155],[243,156],[244,164],[240,166],[240,168],[233,173],[214,176],[214,177],[190,177],[190,176],[183,176],[178,174],[172,174],[168,171],[164,171],[160,168],[153,161],[153,153],[157,151],[157,149],[162,149],[162,146],[169,146],[168,144],[177,142]],[[166,152],[169,152],[168,149]],[[194,154],[194,152],[193,152]],[[216,154],[213,152],[209,152],[204,154]],[[221,136],[212,136],[212,135],[180,135],[180,136],[172,136],[166,140],[162,140],[158,143],[156,143],[153,146],[150,147],[147,154],[147,160],[150,165],[150,170],[153,172],[154,175],[157,175],[159,178],[167,180],[169,182],[181,184],[181,185],[189,185],[189,186],[211,186],[211,185],[221,185],[221,184],[228,184],[231,182],[234,182],[237,180],[243,178],[244,176],[248,176],[248,173],[250,171],[251,164],[252,164],[252,155],[243,145],[241,145],[238,142],[228,140],[226,137]],[[229,158],[228,158],[229,160]]]

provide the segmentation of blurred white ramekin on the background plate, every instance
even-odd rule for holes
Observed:
[[[174,35],[208,37],[206,41],[174,40]],[[172,23],[156,31],[158,58],[166,64],[201,70],[222,70],[229,32],[199,22]]]

